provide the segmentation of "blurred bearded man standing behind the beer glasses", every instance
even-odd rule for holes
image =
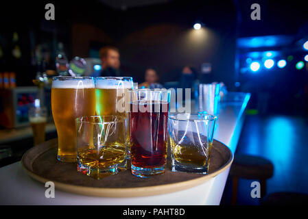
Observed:
[[[99,57],[102,60],[102,72],[100,76],[103,77],[119,77],[120,72],[120,53],[116,47],[102,47],[99,49]]]

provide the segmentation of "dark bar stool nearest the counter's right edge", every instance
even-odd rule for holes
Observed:
[[[266,179],[272,177],[273,173],[274,166],[268,159],[252,155],[235,155],[230,168],[230,177],[233,181],[231,205],[236,205],[237,202],[239,178],[259,180],[263,197],[266,193]]]

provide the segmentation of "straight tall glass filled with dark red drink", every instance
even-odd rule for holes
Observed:
[[[170,91],[130,90],[130,160],[132,174],[150,177],[165,172]]]

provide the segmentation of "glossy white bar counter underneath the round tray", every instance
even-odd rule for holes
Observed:
[[[249,99],[250,94],[229,92],[220,103],[214,138],[226,144],[233,153]],[[158,196],[105,198],[71,194],[56,188],[55,198],[46,198],[45,185],[30,178],[21,162],[16,162],[0,168],[0,205],[219,205],[228,172],[193,188]]]

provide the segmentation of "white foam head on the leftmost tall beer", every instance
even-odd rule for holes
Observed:
[[[95,88],[93,79],[69,79],[52,81],[53,88]]]

